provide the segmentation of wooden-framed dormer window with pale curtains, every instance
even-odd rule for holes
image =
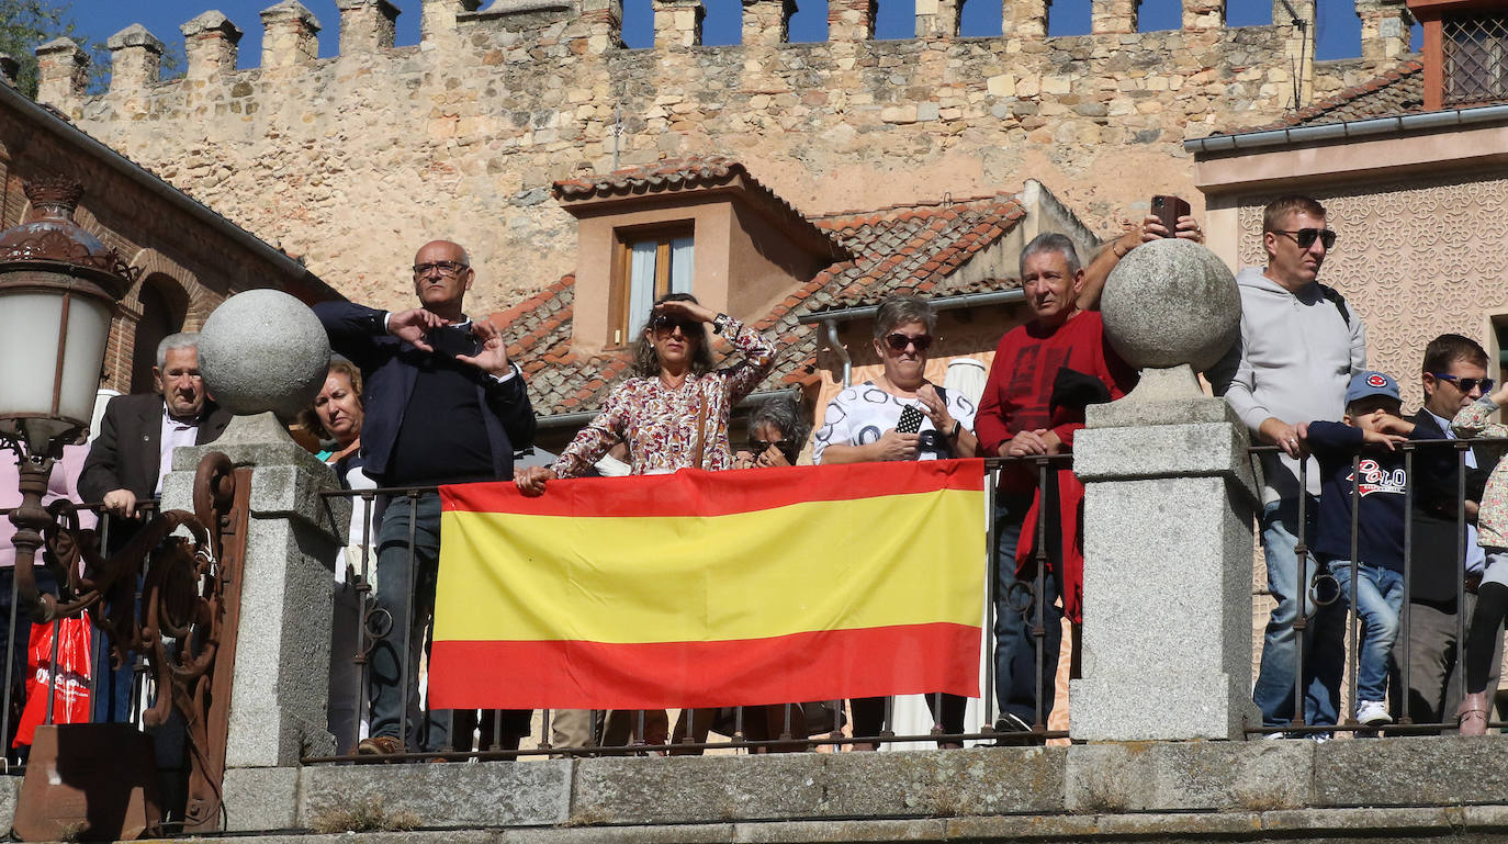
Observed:
[[[692,292],[691,225],[618,232],[615,252],[608,329],[611,345],[626,345],[644,330],[654,300]]]

